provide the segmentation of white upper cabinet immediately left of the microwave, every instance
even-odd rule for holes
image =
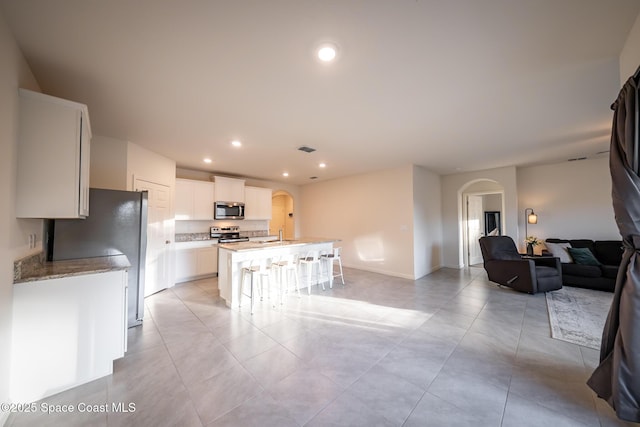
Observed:
[[[213,220],[213,182],[176,179],[176,220]]]

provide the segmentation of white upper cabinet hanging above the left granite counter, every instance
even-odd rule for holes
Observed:
[[[16,217],[89,215],[86,105],[20,89]]]

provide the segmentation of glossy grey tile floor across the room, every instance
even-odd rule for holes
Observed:
[[[345,276],[253,316],[229,310],[216,279],[155,294],[113,375],[45,400],[135,412],[7,425],[625,425],[585,385],[598,352],[550,338],[544,295],[499,288],[477,268]]]

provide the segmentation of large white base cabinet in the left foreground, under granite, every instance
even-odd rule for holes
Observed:
[[[13,286],[12,397],[33,402],[113,373],[127,344],[127,271]]]

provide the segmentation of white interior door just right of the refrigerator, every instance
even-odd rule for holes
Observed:
[[[174,234],[171,192],[166,185],[135,180],[136,191],[148,191],[147,260],[144,296],[171,286],[170,255]]]

